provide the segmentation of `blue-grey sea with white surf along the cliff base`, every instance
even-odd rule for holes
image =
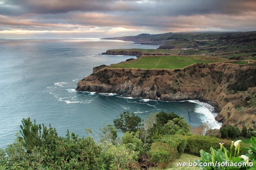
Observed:
[[[157,47],[100,39],[0,39],[0,148],[14,141],[27,117],[50,123],[59,135],[69,129],[80,137],[85,128],[98,134],[104,122],[113,124],[127,110],[142,119],[155,111],[174,111],[192,126],[215,122],[212,107],[199,101],[163,102],[75,91],[76,83],[93,67],[131,58],[99,53]]]

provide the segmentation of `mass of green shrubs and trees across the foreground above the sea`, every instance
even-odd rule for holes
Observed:
[[[51,125],[47,128],[37,125],[35,120],[32,123],[30,118],[23,119],[15,142],[0,149],[0,169],[135,170],[156,165],[165,168],[182,153],[199,155],[201,149],[213,153],[218,143],[232,145],[229,140],[190,134],[184,117],[175,113],[150,114],[143,124],[137,118],[128,111],[120,114],[115,126],[100,128],[99,140],[92,137],[90,129],[87,137],[78,138],[69,131],[66,137],[61,137]],[[122,137],[117,137],[117,129],[124,132]],[[235,152],[231,150],[230,154],[232,151]],[[254,151],[249,147],[241,153],[255,154]]]

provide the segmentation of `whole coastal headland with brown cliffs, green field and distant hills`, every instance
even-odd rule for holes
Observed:
[[[181,101],[200,99],[219,108],[224,125],[256,124],[256,32],[141,34],[118,38],[160,45],[103,54],[138,59],[100,66],[76,90]]]

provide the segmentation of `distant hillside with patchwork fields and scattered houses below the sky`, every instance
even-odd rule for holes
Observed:
[[[152,52],[158,54],[205,55],[233,60],[256,59],[256,32],[140,34],[104,39],[160,45],[158,51]],[[143,51],[143,53],[149,52]]]

